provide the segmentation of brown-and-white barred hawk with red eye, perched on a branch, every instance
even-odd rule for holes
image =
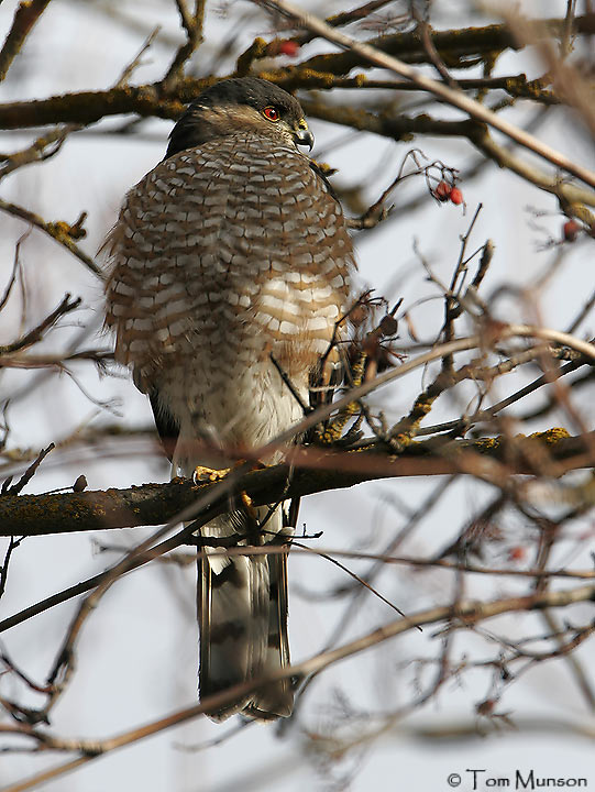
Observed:
[[[312,144],[293,96],[263,79],[222,80],[178,120],[108,238],[115,358],[148,395],[175,475],[222,468],[225,453],[231,464],[304,415],[279,369],[307,403],[355,268],[341,206],[298,150]],[[290,530],[280,506],[236,498],[201,534],[266,544]],[[207,552],[197,601],[202,698],[288,664],[286,554]],[[284,679],[209,715],[274,719],[293,698]]]

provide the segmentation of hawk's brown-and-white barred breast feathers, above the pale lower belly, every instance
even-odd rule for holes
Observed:
[[[355,266],[341,207],[310,161],[245,133],[159,163],[128,194],[106,246],[107,323],[142,380],[179,354],[178,340],[249,317],[287,364],[310,367]]]

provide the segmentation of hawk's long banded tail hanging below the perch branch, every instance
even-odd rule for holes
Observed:
[[[267,514],[256,509],[257,519]],[[261,514],[261,512],[263,514]],[[247,515],[219,517],[203,535],[246,534],[239,525]],[[254,521],[254,517],[251,516]],[[266,520],[279,535],[280,507]],[[275,543],[282,541],[282,537]],[[252,543],[252,542],[243,542]],[[266,543],[266,542],[265,542]],[[289,663],[287,636],[287,554],[209,556],[198,561],[198,624],[200,628],[200,696],[207,698],[241,682],[265,679]],[[291,714],[294,693],[289,679],[252,691],[225,706],[208,712],[214,721],[242,713],[271,721]]]

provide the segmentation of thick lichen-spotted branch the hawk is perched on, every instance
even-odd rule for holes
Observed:
[[[253,471],[240,479],[238,491],[245,492],[255,505],[274,503],[279,498],[311,495],[340,490],[379,479],[444,475],[473,472],[473,458],[506,464],[508,474],[530,474],[526,453],[535,443],[549,453],[549,459],[564,470],[593,464],[592,444],[595,432],[585,437],[568,437],[565,432],[543,432],[526,438],[515,447],[505,439],[451,441],[437,450],[436,440],[411,443],[401,455],[388,452],[330,452],[297,449],[291,459],[296,470],[288,482],[287,465]],[[126,528],[141,525],[162,525],[181,509],[205,495],[217,482],[192,484],[175,479],[167,484],[144,484],[130,490],[64,493],[54,495],[21,495],[0,498],[0,536],[42,536],[75,531]],[[219,508],[224,509],[227,497]]]

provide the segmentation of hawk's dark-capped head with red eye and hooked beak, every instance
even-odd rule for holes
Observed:
[[[189,106],[172,130],[165,156],[241,130],[313,145],[297,99],[267,80],[240,77],[217,82]]]

